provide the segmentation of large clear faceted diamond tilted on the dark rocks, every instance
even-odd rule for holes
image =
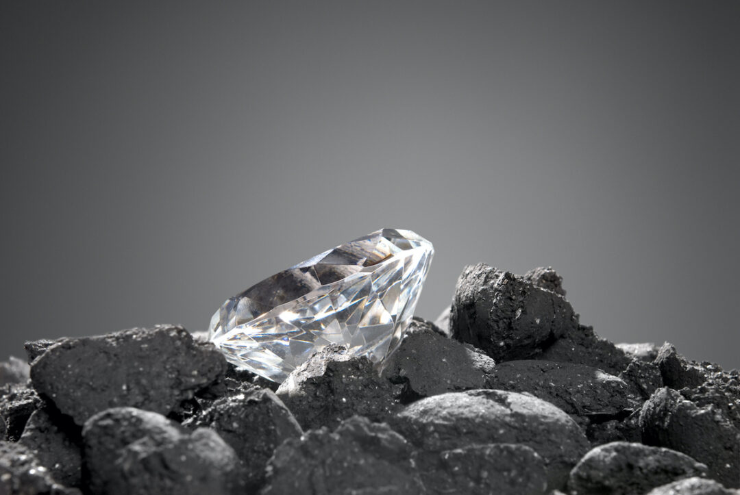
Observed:
[[[209,338],[230,363],[277,383],[332,343],[380,363],[406,332],[433,255],[410,230],[377,230],[229,297]]]

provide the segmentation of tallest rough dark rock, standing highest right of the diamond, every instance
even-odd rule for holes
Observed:
[[[479,263],[457,280],[452,337],[482,349],[497,363],[526,359],[578,326],[571,304],[531,280]]]

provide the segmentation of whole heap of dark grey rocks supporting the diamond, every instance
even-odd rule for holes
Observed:
[[[553,269],[468,266],[382,366],[278,386],[178,326],[0,363],[0,494],[740,494],[740,372],[613,344]]]

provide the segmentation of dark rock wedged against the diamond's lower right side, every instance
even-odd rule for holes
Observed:
[[[428,397],[485,388],[496,363],[477,348],[437,333],[431,323],[412,320],[406,337],[383,363],[383,377],[403,383],[408,393]]]

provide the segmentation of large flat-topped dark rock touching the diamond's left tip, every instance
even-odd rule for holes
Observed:
[[[119,406],[167,414],[225,372],[221,352],[178,326],[63,339],[31,364],[38,393],[78,425]]]

